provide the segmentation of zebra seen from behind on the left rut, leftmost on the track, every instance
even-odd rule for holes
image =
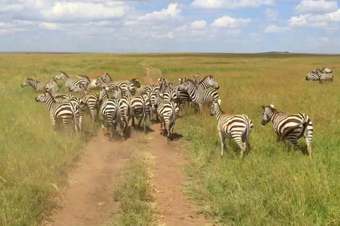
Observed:
[[[109,141],[113,138],[113,129],[117,129],[118,123],[120,124],[120,111],[119,111],[119,100],[110,99],[108,97],[107,90],[108,88],[101,88],[101,92],[99,93],[99,100],[101,100],[101,117],[102,117],[102,128],[107,128],[107,133],[110,133]],[[106,126],[104,126],[106,124]],[[123,133],[120,134],[123,138]]]

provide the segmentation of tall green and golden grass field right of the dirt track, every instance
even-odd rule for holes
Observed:
[[[247,114],[254,123],[251,153],[239,160],[234,142],[227,141],[221,158],[217,121],[210,116],[209,107],[203,115],[194,115],[190,109],[184,112],[176,126],[185,137],[184,152],[191,162],[186,167],[192,177],[186,193],[201,213],[221,225],[339,225],[339,60],[256,56],[154,61],[170,81],[190,78],[191,72],[199,72],[201,78],[211,73],[220,83],[222,109],[227,114]],[[334,83],[307,83],[305,74],[317,66],[334,66]],[[175,68],[183,73],[172,70]],[[261,105],[271,102],[279,111],[310,116],[314,124],[312,160],[277,143],[271,123],[261,125]],[[305,148],[303,139],[300,143]]]

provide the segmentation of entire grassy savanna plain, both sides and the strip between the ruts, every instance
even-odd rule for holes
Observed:
[[[21,88],[26,78],[49,81],[58,71],[96,78],[108,72],[116,81],[132,76],[143,81],[145,65],[153,81],[159,70],[174,83],[211,74],[220,85],[224,112],[246,114],[253,121],[251,152],[240,160],[228,141],[220,157],[217,122],[209,107],[202,115],[190,107],[181,112],[175,132],[183,136],[181,152],[188,160],[185,194],[200,213],[220,225],[340,225],[339,56],[4,53],[0,65],[0,225],[43,222],[58,207],[69,169],[99,129],[87,113],[79,136],[54,131],[47,107],[35,102],[39,93]],[[334,67],[334,82],[305,81],[317,66]],[[303,112],[312,119],[312,158],[304,154],[303,139],[301,150],[293,150],[276,141],[272,123],[261,125],[261,105],[272,102],[278,111]],[[157,225],[143,152],[132,150],[113,192],[126,205],[107,225]],[[129,186],[134,183],[138,186]]]

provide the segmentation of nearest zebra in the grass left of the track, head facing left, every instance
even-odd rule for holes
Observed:
[[[55,98],[52,96],[52,94],[45,90],[44,93],[39,95],[38,97],[35,97],[36,102],[45,102],[47,105],[47,108],[50,110],[50,117],[52,120],[52,126],[55,127],[56,121],[61,122],[64,126],[64,129],[68,131],[69,129],[69,123],[70,121],[74,121],[75,129],[78,133],[77,129],[77,118],[74,114],[74,106],[69,103],[57,103],[55,102]]]

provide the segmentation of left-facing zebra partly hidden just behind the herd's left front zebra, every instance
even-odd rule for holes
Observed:
[[[80,93],[81,99],[85,103],[87,107],[89,107],[89,111],[92,117],[92,122],[94,122],[94,119],[96,115],[99,113],[99,100],[95,93],[89,93],[83,86],[81,87],[72,87],[69,88],[70,92]],[[95,113],[96,110],[96,113]]]

